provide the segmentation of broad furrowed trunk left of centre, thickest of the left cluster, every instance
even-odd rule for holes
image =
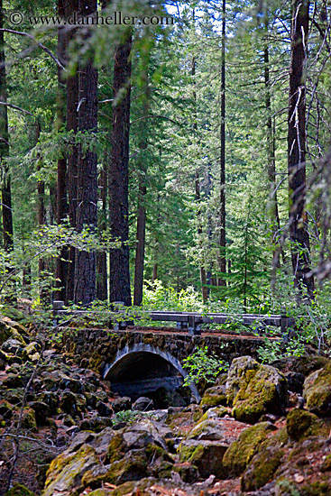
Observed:
[[[80,12],[92,14],[97,11],[97,0],[81,2]],[[93,60],[79,67],[78,131],[97,133],[97,69]],[[77,230],[90,227],[97,230],[97,153],[78,147],[78,207]],[[77,251],[75,259],[74,301],[88,305],[96,299],[97,253]]]

